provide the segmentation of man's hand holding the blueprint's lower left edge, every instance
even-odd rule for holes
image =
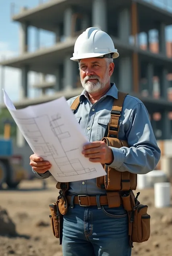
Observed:
[[[30,156],[30,166],[33,170],[42,174],[51,168],[51,164],[48,161],[44,161],[41,157],[37,157],[36,154]]]

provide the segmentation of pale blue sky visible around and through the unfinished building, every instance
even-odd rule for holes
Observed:
[[[36,7],[39,2],[45,2],[50,0],[0,0],[0,60],[4,58],[10,58],[19,55],[19,28],[20,24],[11,20],[11,3],[15,3],[14,13],[19,13],[19,10],[23,6],[28,8]],[[150,1],[150,0],[146,0]],[[151,0],[155,1],[160,7],[163,6],[163,2],[169,2],[169,10],[172,12],[172,0]],[[29,28],[29,51],[36,50],[35,44],[35,28]],[[51,46],[54,44],[54,35],[50,32],[40,32],[40,46]],[[142,36],[142,41],[145,38]],[[167,40],[172,41],[172,30],[167,29]],[[2,72],[0,67],[0,88],[4,88],[12,101],[19,100],[20,95],[20,81],[21,72],[16,68],[4,68],[4,82],[2,83]],[[50,77],[50,80],[53,78]],[[29,85],[38,81],[38,75],[34,72],[29,72]],[[1,90],[0,90],[0,95]],[[34,89],[29,89],[29,97],[37,97],[39,92]],[[1,99],[2,100],[2,99]]]

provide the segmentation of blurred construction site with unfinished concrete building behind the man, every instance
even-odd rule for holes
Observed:
[[[1,5],[1,4],[0,4]],[[138,97],[146,106],[161,150],[161,159],[147,181],[138,179],[140,201],[148,205],[151,237],[134,244],[132,255],[171,256],[172,190],[169,206],[155,207],[155,182],[172,183],[172,2],[171,0],[46,0],[34,8],[11,4],[11,22],[19,25],[20,54],[0,62],[20,69],[20,100],[16,109],[81,94],[78,63],[71,61],[77,37],[89,27],[107,32],[118,49],[111,81],[118,90]],[[29,51],[29,27],[37,29],[36,50]],[[54,34],[54,45],[40,47],[39,31]],[[37,73],[31,85],[39,91],[29,97],[29,72]],[[48,77],[53,77],[52,81]],[[1,79],[1,89],[4,81]],[[51,91],[49,94],[48,92]],[[3,98],[1,110],[5,109]],[[20,130],[11,137],[12,118],[1,120],[0,138],[0,256],[62,256],[53,236],[49,204],[56,202],[56,180],[37,179],[29,165],[33,154]],[[157,174],[159,171],[159,174]],[[134,192],[134,193],[135,193]],[[114,255],[115,256],[115,255]]]

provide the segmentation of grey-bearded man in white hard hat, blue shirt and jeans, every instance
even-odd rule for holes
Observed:
[[[75,42],[71,60],[78,61],[84,88],[75,117],[90,141],[82,154],[91,162],[105,164],[119,172],[146,174],[158,163],[160,149],[147,109],[138,98],[125,97],[119,119],[119,139],[127,140],[128,147],[118,149],[101,141],[114,99],[118,98],[118,90],[110,82],[113,58],[118,56],[110,36],[98,28],[88,28]],[[76,98],[68,100],[69,106]],[[51,164],[34,154],[30,156],[30,165],[38,178],[51,175]],[[96,179],[71,182],[68,193],[73,197],[106,195],[105,189],[97,186]],[[128,216],[123,205],[81,207],[71,200],[64,215],[62,249],[64,256],[130,256]]]

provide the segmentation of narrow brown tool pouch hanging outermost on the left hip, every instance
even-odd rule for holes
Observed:
[[[51,225],[53,229],[53,235],[56,238],[60,238],[60,244],[62,241],[62,226],[63,226],[63,216],[58,211],[57,203],[49,204],[50,214],[49,217],[51,219]]]

